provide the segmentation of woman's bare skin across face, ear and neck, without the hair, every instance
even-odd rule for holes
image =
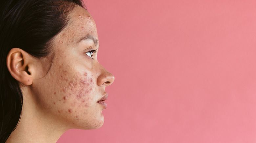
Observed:
[[[97,129],[104,123],[105,106],[98,101],[107,97],[105,87],[114,76],[99,64],[97,52],[90,57],[89,51],[99,48],[90,14],[76,6],[68,18],[48,57],[37,59],[18,48],[9,53],[14,60],[7,62],[8,69],[21,82],[24,103],[7,142],[56,142],[68,129]]]

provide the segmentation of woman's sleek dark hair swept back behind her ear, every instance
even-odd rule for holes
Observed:
[[[1,0],[0,2],[0,142],[16,128],[23,97],[19,82],[7,69],[12,48],[37,58],[51,52],[51,40],[68,23],[68,12],[82,0]]]

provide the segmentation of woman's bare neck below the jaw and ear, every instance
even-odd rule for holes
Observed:
[[[6,143],[56,143],[67,129],[50,119],[36,108],[36,102],[31,96],[23,96],[20,122]]]

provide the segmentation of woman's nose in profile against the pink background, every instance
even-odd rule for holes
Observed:
[[[97,85],[106,87],[111,85],[114,82],[114,79],[114,75],[108,72],[103,66],[101,66],[100,75],[97,79]]]

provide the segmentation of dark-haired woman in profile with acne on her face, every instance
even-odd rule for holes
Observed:
[[[97,61],[82,1],[0,4],[0,142],[56,142],[68,129],[101,127],[114,76]]]

